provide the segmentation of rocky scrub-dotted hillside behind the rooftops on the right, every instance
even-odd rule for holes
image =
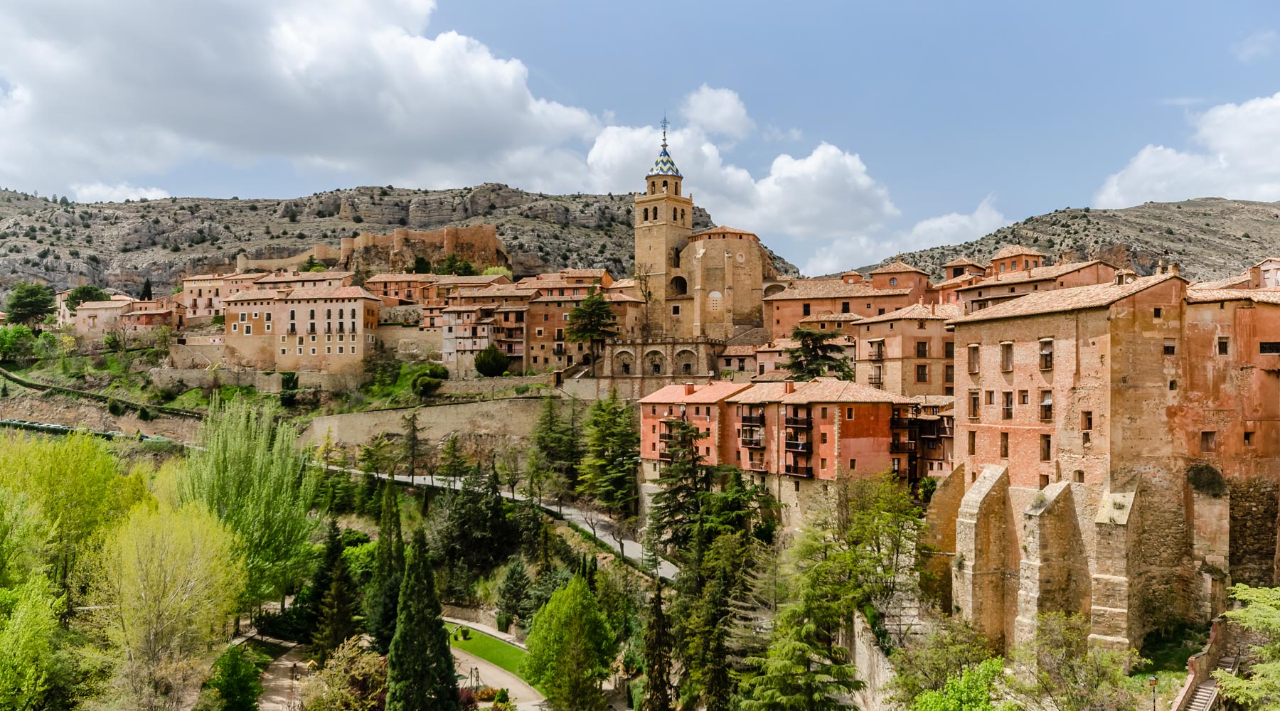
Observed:
[[[1263,257],[1280,254],[1280,202],[1206,197],[1147,202],[1123,210],[1066,207],[964,244],[908,252],[902,260],[941,277],[941,265],[956,257],[986,262],[1001,247],[1014,243],[1029,244],[1055,261],[1106,260],[1151,274],[1164,258],[1181,265],[1188,279],[1221,279],[1240,274]],[[876,266],[859,271],[865,274]]]

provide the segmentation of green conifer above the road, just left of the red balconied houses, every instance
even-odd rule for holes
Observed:
[[[640,501],[636,476],[640,431],[635,410],[611,391],[608,399],[591,404],[585,431],[579,491],[599,501],[613,515],[636,515]]]

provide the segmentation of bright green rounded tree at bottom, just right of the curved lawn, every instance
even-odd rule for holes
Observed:
[[[521,671],[547,689],[556,708],[591,711],[604,706],[600,683],[617,645],[590,586],[575,577],[534,615]]]

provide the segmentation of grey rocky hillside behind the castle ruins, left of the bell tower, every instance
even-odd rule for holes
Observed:
[[[0,191],[0,294],[20,280],[137,294],[151,279],[168,293],[187,274],[229,271],[236,254],[294,254],[360,231],[493,224],[517,275],[563,267],[631,274],[630,194],[552,196],[486,183],[416,191],[362,187],[294,199],[165,198],[59,205]],[[694,228],[714,226],[694,210]],[[796,267],[774,256],[783,274]]]

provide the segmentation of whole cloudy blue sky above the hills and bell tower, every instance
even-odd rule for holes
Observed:
[[[695,201],[831,271],[1068,205],[1280,199],[1277,32],[1274,3],[9,4],[0,184],[623,192],[666,113]]]

